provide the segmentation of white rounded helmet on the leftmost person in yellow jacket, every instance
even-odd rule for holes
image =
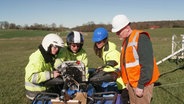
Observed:
[[[42,46],[45,51],[49,50],[50,45],[64,47],[64,42],[60,36],[54,33],[47,34],[42,40]]]

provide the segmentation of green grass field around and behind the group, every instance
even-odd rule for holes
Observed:
[[[180,39],[184,28],[146,30],[151,34],[154,54],[159,61],[171,54],[171,37],[173,34]],[[29,104],[25,97],[24,68],[29,55],[40,44],[48,31],[0,30],[0,104]],[[66,33],[61,33],[65,40]],[[102,61],[94,55],[92,33],[84,33],[84,49],[87,51],[89,67],[98,67]],[[110,41],[117,44],[120,50],[121,40],[110,33]],[[179,65],[166,61],[159,65],[161,73],[173,70]],[[183,104],[184,103],[184,70],[178,69],[160,77],[162,85],[154,88],[152,104]],[[176,84],[174,84],[176,83]],[[180,83],[180,84],[179,84]]]

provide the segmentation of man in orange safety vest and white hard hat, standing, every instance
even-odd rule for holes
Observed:
[[[129,19],[123,14],[113,17],[111,31],[123,39],[121,72],[130,104],[150,104],[154,82],[159,78],[150,35],[131,29]]]

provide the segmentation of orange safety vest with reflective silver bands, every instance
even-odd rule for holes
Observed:
[[[138,47],[139,34],[141,33],[145,33],[150,38],[147,32],[133,30],[129,37],[126,51],[124,50],[123,46],[122,46],[122,51],[121,51],[120,62],[121,62],[122,78],[123,78],[124,83],[130,83],[132,87],[137,87],[138,80],[140,78],[141,65],[139,64],[139,56],[137,53],[137,47]],[[125,42],[123,42],[123,45],[124,44]],[[154,58],[152,79],[149,82],[147,82],[145,86],[152,84],[156,80],[158,80],[159,75],[160,73],[158,70],[158,66],[156,65],[156,60]]]

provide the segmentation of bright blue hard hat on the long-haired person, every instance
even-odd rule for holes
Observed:
[[[92,41],[99,42],[107,37],[108,37],[108,31],[103,27],[99,27],[94,31]]]

